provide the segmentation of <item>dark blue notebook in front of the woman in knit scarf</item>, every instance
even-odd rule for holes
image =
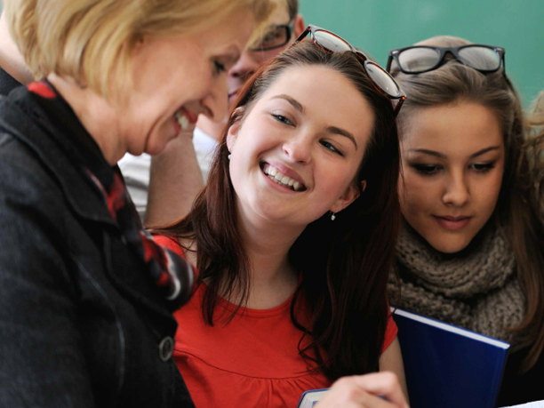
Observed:
[[[508,343],[399,308],[391,310],[412,407],[495,406]]]

